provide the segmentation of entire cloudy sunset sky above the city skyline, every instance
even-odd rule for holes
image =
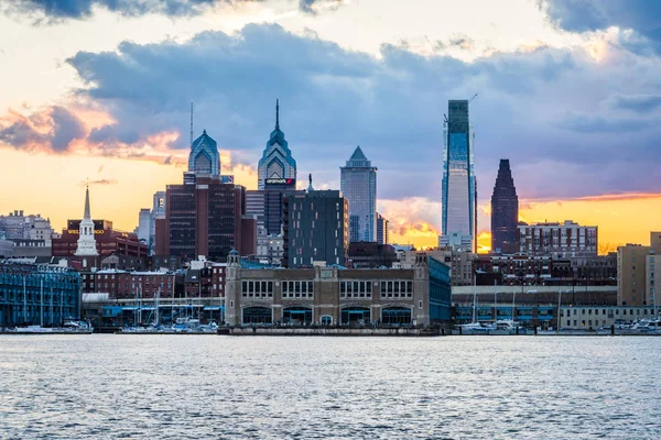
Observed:
[[[0,213],[132,230],[206,129],[256,188],[274,125],[300,180],[360,145],[392,241],[441,229],[443,113],[468,99],[480,244],[498,162],[528,222],[661,229],[661,3],[646,0],[14,0],[0,3]]]

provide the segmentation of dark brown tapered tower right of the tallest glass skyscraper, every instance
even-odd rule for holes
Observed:
[[[510,254],[519,251],[519,197],[508,158],[500,160],[491,196],[491,251]]]

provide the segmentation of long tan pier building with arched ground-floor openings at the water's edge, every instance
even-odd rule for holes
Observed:
[[[230,326],[446,323],[448,273],[434,267],[432,274],[426,255],[421,253],[414,266],[405,270],[250,270],[241,267],[234,253],[227,266],[226,320]]]

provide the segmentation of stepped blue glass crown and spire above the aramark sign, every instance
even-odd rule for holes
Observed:
[[[275,101],[275,130],[259,160],[257,188],[266,189],[267,179],[295,179],[296,161],[292,157],[284,133],[280,131],[280,103]]]

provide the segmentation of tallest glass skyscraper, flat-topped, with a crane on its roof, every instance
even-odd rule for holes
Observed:
[[[468,100],[449,100],[444,122],[442,246],[477,251],[475,134]]]

